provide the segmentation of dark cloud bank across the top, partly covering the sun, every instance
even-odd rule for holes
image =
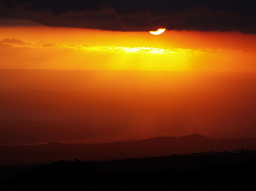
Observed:
[[[0,0],[0,18],[44,26],[149,31],[156,28],[256,33],[255,1]]]

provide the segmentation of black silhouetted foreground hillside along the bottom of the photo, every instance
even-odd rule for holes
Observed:
[[[40,165],[22,175],[2,180],[1,187],[5,190],[222,190],[253,186],[255,171],[256,154],[252,153],[201,153],[105,162],[76,159],[75,162],[61,160]]]

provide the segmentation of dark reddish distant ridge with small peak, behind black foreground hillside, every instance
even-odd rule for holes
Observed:
[[[199,134],[184,137],[156,137],[140,141],[101,144],[0,146],[0,159],[125,159],[183,155],[194,152],[256,150],[256,138],[210,139]]]

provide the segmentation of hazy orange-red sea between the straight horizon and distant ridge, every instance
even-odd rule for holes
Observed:
[[[0,73],[2,145],[256,135],[254,72]]]

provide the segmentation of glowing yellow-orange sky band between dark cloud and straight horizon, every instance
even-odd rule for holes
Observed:
[[[1,27],[1,69],[256,71],[256,35]]]

